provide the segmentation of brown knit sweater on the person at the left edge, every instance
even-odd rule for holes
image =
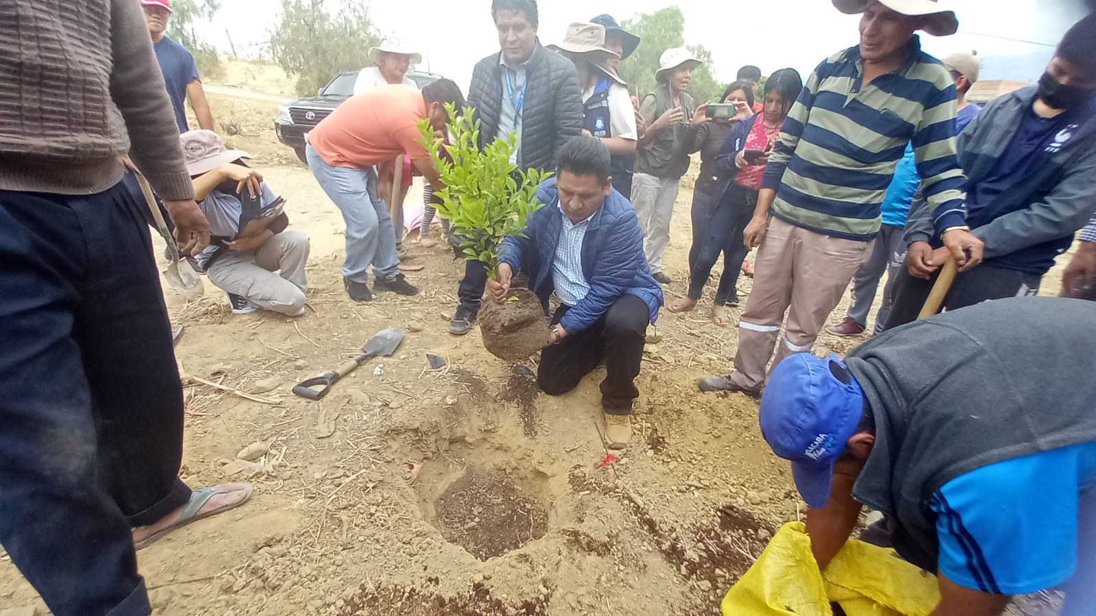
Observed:
[[[102,192],[126,152],[162,198],[194,196],[137,0],[0,0],[0,190]]]

